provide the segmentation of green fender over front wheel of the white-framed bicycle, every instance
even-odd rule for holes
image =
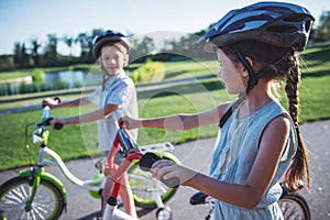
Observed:
[[[34,170],[33,169],[22,169],[20,170],[20,176],[23,177],[28,177],[28,176],[34,176]],[[52,184],[54,184],[61,191],[63,199],[64,199],[64,204],[65,206],[67,205],[67,194],[66,194],[66,188],[64,187],[63,183],[54,175],[46,173],[44,170],[41,170],[41,178],[42,179],[46,179],[48,182],[51,182]]]

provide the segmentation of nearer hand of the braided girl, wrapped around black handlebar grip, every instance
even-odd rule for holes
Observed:
[[[164,179],[177,177],[179,178],[180,185],[184,186],[188,185],[191,177],[194,177],[197,174],[197,172],[180,166],[178,164],[175,164],[169,160],[156,161],[153,164],[151,172],[156,179],[161,179],[162,177]]]

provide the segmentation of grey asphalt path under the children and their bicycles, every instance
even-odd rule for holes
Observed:
[[[330,143],[330,120],[317,121],[301,124],[300,127],[304,140],[309,150],[309,162],[311,169],[311,191],[306,189],[299,191],[307,200],[311,219],[324,220],[330,219],[330,166],[329,166],[329,143]],[[185,166],[207,173],[211,160],[212,148],[216,139],[202,139],[176,145],[173,152]],[[90,178],[97,174],[94,167],[92,158],[75,160],[66,162],[67,167],[79,178]],[[54,167],[46,167],[48,172],[63,180],[67,189],[68,206],[67,212],[64,212],[63,220],[90,220],[96,219],[96,215],[100,210],[100,201],[94,199],[84,189],[74,186],[65,179]],[[18,175],[19,169],[11,169],[0,173],[0,184],[7,179]],[[210,210],[209,205],[190,206],[189,198],[196,193],[195,189],[180,186],[177,194],[166,202],[166,207],[170,208],[174,220],[205,219]],[[154,220],[156,210],[138,209],[140,219]]]

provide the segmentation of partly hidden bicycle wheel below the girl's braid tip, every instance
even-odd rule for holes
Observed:
[[[310,211],[307,201],[298,194],[288,194],[278,200],[285,220],[309,220]]]

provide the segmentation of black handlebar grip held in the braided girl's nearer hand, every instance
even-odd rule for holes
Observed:
[[[156,154],[154,153],[146,153],[142,156],[142,158],[140,160],[140,168],[142,170],[145,170],[145,172],[150,172],[151,170],[151,167],[152,165],[156,162],[156,161],[160,161],[162,160],[160,156],[157,156]],[[173,178],[169,178],[169,179],[164,179],[163,177],[161,178],[161,182],[163,184],[165,184],[167,187],[169,188],[175,188],[175,187],[178,187],[179,184],[180,184],[180,180],[179,178],[177,177],[173,177]]]

